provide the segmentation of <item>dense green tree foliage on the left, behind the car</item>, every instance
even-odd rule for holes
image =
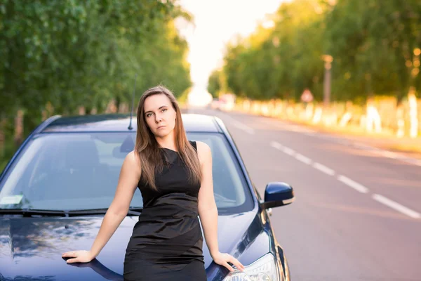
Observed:
[[[48,115],[131,102],[135,75],[137,98],[188,89],[178,17],[192,20],[177,0],[0,0],[0,164],[18,145],[18,110],[27,135]]]

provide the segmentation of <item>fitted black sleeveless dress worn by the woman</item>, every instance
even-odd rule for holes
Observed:
[[[197,151],[196,142],[190,141]],[[178,152],[161,148],[169,165],[156,173],[153,190],[141,177],[143,210],[128,242],[124,280],[206,280],[198,218],[200,184],[189,183]]]

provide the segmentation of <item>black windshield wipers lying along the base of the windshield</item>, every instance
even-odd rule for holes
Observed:
[[[42,209],[0,209],[0,214],[22,215],[22,216],[86,216],[105,215],[108,209],[83,209],[83,210],[42,210]],[[130,208],[128,216],[139,216],[142,208]]]

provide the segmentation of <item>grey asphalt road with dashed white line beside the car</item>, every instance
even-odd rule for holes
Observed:
[[[278,119],[215,115],[261,195],[270,181],[295,202],[273,209],[293,281],[421,280],[421,163]]]

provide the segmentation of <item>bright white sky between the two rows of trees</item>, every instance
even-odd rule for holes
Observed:
[[[194,17],[192,24],[178,23],[189,44],[187,60],[196,89],[206,90],[210,73],[222,64],[227,42],[236,34],[254,32],[267,14],[276,12],[285,0],[179,0]]]

